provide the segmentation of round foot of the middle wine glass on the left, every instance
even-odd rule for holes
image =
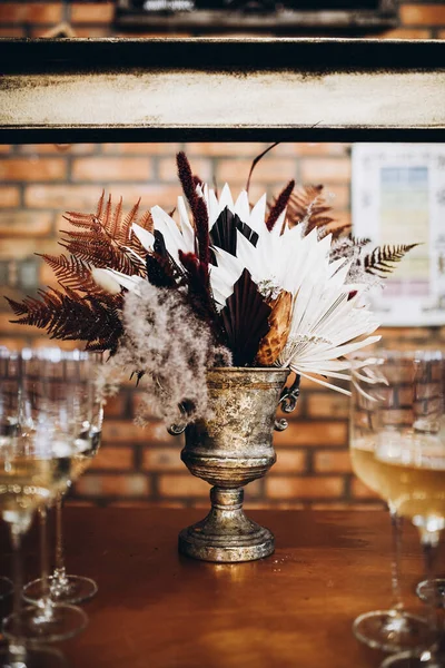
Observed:
[[[27,644],[58,642],[77,636],[87,623],[87,615],[75,606],[51,605],[48,610],[32,606],[23,608],[19,617],[7,617],[2,630],[8,640],[13,640],[20,632]]]

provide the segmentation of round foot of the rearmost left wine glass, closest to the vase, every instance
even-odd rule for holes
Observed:
[[[49,578],[49,590],[55,603],[81,603],[96,596],[98,587],[95,580],[82,576],[65,576],[65,578]],[[41,578],[29,582],[23,588],[23,599],[28,603],[38,605],[44,597],[46,588]]]

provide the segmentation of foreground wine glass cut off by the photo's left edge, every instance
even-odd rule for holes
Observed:
[[[24,425],[23,418],[33,412],[39,392],[37,386],[32,392],[23,392],[23,367],[33,377],[38,377],[39,369],[37,361],[33,358],[31,363],[28,352],[23,353],[0,348],[0,514],[10,530],[14,580],[9,645],[0,650],[0,666],[59,668],[66,665],[62,655],[50,648],[30,648],[22,625],[29,612],[21,602],[22,537],[34,511],[48,502],[51,490],[63,480],[51,442],[29,438],[29,421]],[[30,405],[24,405],[26,402]]]

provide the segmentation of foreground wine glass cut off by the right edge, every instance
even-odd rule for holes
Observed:
[[[377,416],[375,459],[382,493],[398,514],[418,528],[426,580],[435,592],[433,558],[445,528],[445,356],[441,352],[387,355],[388,392]],[[395,655],[385,668],[438,668],[437,601],[428,597],[429,639],[418,651]]]

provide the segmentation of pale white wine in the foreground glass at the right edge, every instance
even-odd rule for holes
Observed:
[[[445,444],[435,435],[390,434],[376,452],[385,481],[382,492],[398,514],[445,522]]]

